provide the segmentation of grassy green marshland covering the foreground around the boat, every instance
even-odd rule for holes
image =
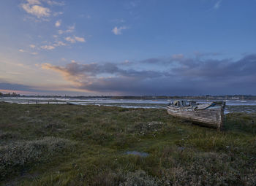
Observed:
[[[218,132],[164,109],[0,103],[0,185],[255,185],[255,170],[256,113]]]

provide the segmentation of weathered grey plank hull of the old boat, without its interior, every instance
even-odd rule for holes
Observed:
[[[211,106],[207,109],[176,109],[173,106],[167,106],[167,112],[174,117],[180,117],[184,120],[190,120],[210,128],[222,129],[224,123],[223,106]]]

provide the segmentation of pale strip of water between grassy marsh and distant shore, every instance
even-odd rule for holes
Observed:
[[[182,100],[182,99],[181,99]],[[212,101],[226,101],[225,114],[230,112],[256,112],[255,100],[206,100],[193,99],[204,104]],[[56,98],[56,97],[1,97],[0,101],[13,104],[67,104],[74,102],[82,105],[97,106],[119,106],[124,108],[144,108],[144,109],[165,109],[167,104],[173,99],[113,99],[113,98]]]

